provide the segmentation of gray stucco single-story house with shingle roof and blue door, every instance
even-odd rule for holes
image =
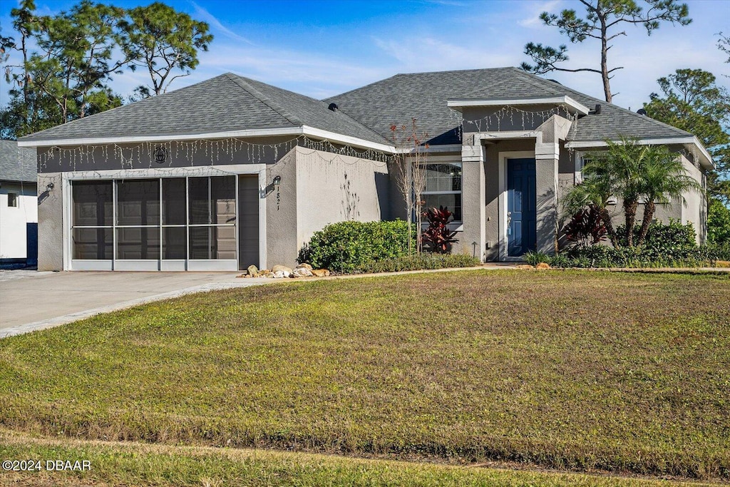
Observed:
[[[343,220],[405,218],[391,126],[429,134],[428,206],[485,261],[553,253],[582,153],[621,135],[667,145],[704,185],[693,134],[515,68],[398,74],[323,101],[236,74],[20,139],[38,156],[39,269],[293,264]],[[658,218],[691,221],[702,197]]]

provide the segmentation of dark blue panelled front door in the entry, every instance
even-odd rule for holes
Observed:
[[[537,248],[535,160],[507,159],[507,256]]]

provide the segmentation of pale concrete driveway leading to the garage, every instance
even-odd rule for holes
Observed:
[[[239,274],[0,271],[0,338],[158,299],[271,282]]]

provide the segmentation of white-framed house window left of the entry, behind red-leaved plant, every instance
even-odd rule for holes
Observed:
[[[453,221],[461,222],[461,163],[426,165],[426,188],[423,210],[446,207],[453,213]]]

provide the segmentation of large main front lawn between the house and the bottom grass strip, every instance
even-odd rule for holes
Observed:
[[[0,425],[730,478],[730,277],[286,283],[0,340]]]

